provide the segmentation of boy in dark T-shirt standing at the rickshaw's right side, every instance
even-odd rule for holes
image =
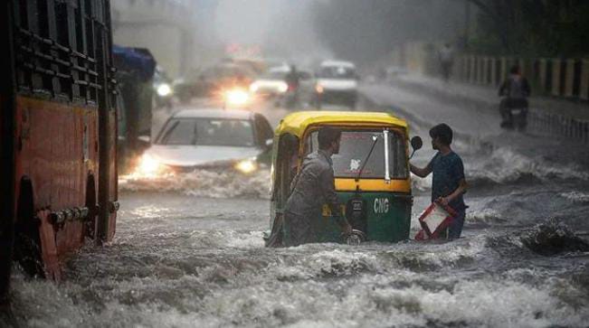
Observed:
[[[461,156],[451,149],[453,132],[447,124],[439,124],[430,130],[432,148],[438,153],[433,156],[430,164],[419,168],[409,164],[411,172],[419,177],[426,177],[433,173],[432,202],[438,202],[444,206],[450,206],[456,211],[449,229],[446,233],[448,239],[461,238],[462,226],[468,206],[464,204],[463,194],[466,192],[467,183],[464,177],[464,165]]]

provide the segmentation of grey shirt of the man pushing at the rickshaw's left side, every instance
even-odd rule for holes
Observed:
[[[323,150],[305,157],[299,173],[290,184],[286,211],[306,220],[317,219],[321,207],[327,203],[334,216],[340,216],[339,201],[334,181],[333,163]]]

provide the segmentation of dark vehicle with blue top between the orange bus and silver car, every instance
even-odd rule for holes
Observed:
[[[163,83],[161,70],[151,52],[143,48],[113,46],[113,61],[118,80],[116,101],[118,112],[119,171],[127,171],[130,161],[149,145],[152,111],[157,102],[156,85]],[[171,100],[171,99],[170,99]]]

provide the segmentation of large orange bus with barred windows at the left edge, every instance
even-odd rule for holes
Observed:
[[[0,9],[0,299],[13,259],[31,276],[59,279],[87,238],[101,244],[114,236],[109,5],[8,0]]]

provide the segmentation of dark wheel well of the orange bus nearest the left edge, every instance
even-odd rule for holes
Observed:
[[[30,276],[44,276],[39,224],[34,213],[33,183],[28,176],[24,176],[16,204],[14,259]]]

